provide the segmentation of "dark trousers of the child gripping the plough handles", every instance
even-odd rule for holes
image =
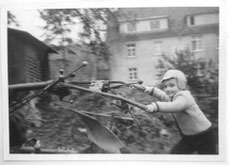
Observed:
[[[215,130],[211,127],[197,135],[184,135],[170,153],[192,154],[196,151],[198,154],[217,154],[216,144],[217,138]]]

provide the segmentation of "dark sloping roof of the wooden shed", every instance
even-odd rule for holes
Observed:
[[[36,37],[31,35],[30,33],[18,29],[8,28],[8,37],[14,36],[16,38],[21,39],[23,42],[30,43],[34,45],[38,49],[43,49],[44,51],[47,51],[48,53],[57,53],[58,52],[51,48],[50,46],[46,45],[44,42],[38,40]]]

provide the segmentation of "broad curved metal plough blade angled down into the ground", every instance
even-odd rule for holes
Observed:
[[[103,126],[96,118],[74,109],[66,108],[77,113],[87,127],[88,138],[109,153],[120,153],[120,148],[125,147],[120,139]]]

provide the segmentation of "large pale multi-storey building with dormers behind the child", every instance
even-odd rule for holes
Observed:
[[[154,84],[162,54],[189,49],[218,62],[218,7],[121,8],[110,19],[111,79]]]

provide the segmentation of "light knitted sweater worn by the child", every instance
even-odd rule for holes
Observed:
[[[152,95],[160,100],[157,102],[160,112],[174,113],[184,135],[195,135],[211,127],[189,91],[179,91],[172,100],[158,88],[154,88]]]

